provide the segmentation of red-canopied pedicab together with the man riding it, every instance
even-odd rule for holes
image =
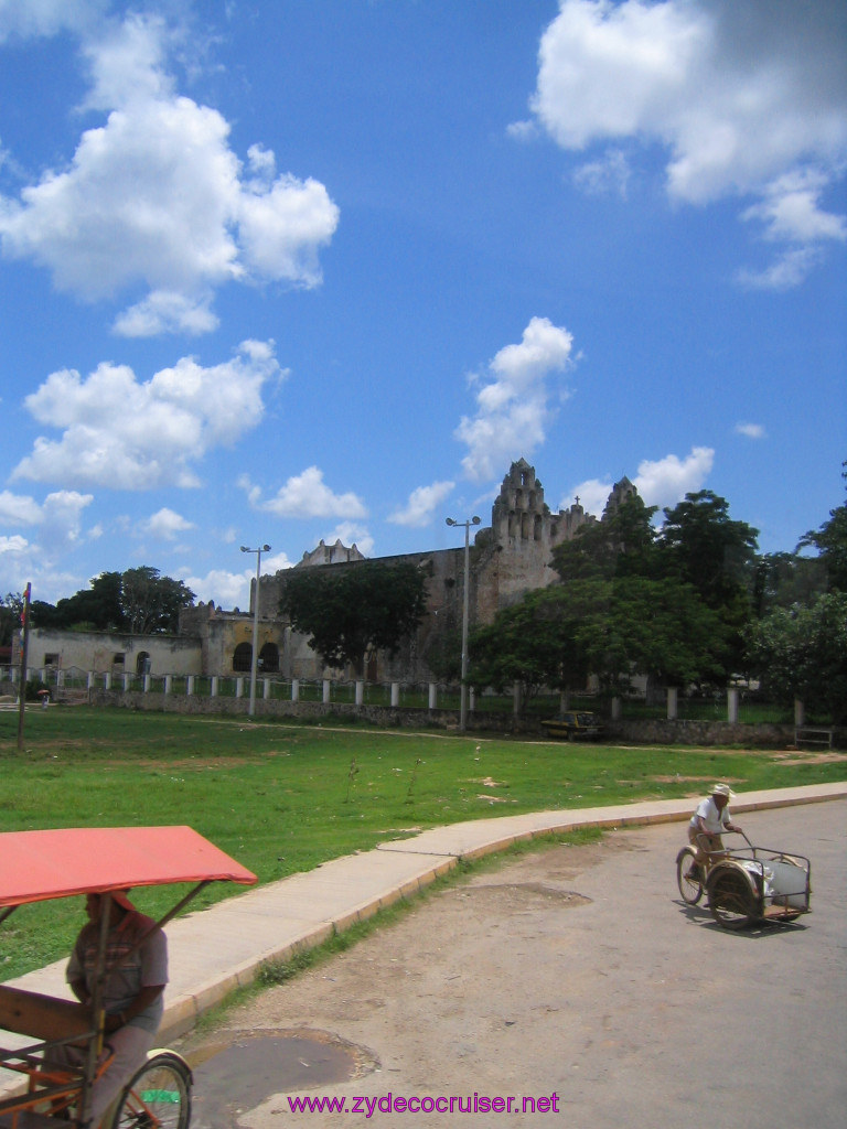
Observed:
[[[75,895],[89,917],[68,966],[76,1001],[0,984],[0,1068],[17,1082],[0,1093],[0,1129],[186,1129],[191,1070],[151,1045],[167,980],[161,929],[216,881],[256,877],[186,826],[0,834],[0,925]],[[174,883],[192,889],[158,921],[128,898]]]

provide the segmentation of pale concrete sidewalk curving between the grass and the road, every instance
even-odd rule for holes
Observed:
[[[733,802],[732,811],[739,814],[844,797],[847,782],[744,793]],[[250,983],[263,962],[286,961],[320,945],[333,931],[422,890],[460,859],[479,858],[515,842],[576,828],[688,820],[692,808],[690,798],[667,799],[454,823],[324,863],[315,870],[189,913],[167,927],[171,982],[161,1042],[189,1031],[203,1012],[234,988]],[[60,961],[9,982],[69,998],[64,968],[66,962]]]

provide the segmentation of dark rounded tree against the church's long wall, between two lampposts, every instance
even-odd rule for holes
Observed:
[[[394,654],[426,609],[427,576],[409,561],[292,569],[279,610],[328,666],[361,671],[369,651]]]

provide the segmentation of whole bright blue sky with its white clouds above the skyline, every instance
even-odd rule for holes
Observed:
[[[841,0],[0,0],[0,592],[844,500]]]

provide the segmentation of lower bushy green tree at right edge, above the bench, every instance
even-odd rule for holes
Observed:
[[[778,701],[798,698],[837,725],[847,721],[847,592],[777,607],[753,625],[748,664]]]

